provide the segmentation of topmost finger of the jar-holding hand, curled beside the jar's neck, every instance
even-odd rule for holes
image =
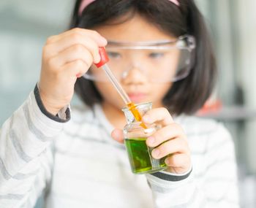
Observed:
[[[151,109],[143,116],[144,123],[155,123],[157,121],[162,123],[163,126],[167,126],[173,123],[173,118],[165,107]]]

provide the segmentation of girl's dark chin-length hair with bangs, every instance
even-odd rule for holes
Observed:
[[[75,4],[71,28],[94,28],[110,24],[111,20],[126,14],[132,18],[132,15],[138,13],[171,35],[195,36],[197,47],[192,70],[184,80],[173,83],[163,104],[176,115],[189,115],[203,106],[214,88],[217,69],[203,16],[193,0],[178,0],[179,7],[168,0],[94,1],[83,10],[82,15],[78,15],[80,1]],[[102,101],[91,80],[78,79],[75,91],[89,107]]]

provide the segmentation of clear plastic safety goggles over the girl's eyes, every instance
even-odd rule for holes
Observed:
[[[190,72],[193,63],[195,38],[179,36],[176,40],[154,42],[115,42],[108,41],[108,66],[118,81],[126,79],[137,71],[146,76],[148,82],[176,82]],[[86,79],[98,82],[109,82],[105,72],[91,67]]]

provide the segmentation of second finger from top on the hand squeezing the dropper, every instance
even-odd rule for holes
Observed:
[[[58,42],[46,46],[46,50],[48,50],[48,55],[52,57],[58,55],[63,50],[66,50],[67,48],[72,47],[73,45],[83,45],[83,47],[86,47],[93,56],[94,63],[99,63],[99,46],[88,36],[81,36],[80,34],[64,37],[63,39],[60,39]]]

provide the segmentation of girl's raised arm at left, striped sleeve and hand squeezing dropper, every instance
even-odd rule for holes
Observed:
[[[81,28],[48,38],[42,51],[39,88],[36,86],[1,130],[1,207],[34,206],[50,180],[53,155],[49,145],[69,119],[67,105],[75,82],[93,62],[100,61],[99,46],[106,44],[97,32]]]

